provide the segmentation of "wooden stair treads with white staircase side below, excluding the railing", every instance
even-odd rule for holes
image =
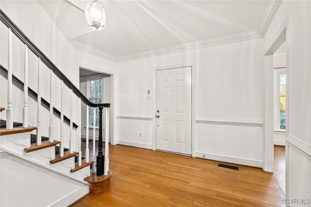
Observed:
[[[7,130],[3,126],[0,206],[68,206],[89,193],[84,178],[91,175],[93,161],[78,166],[74,159],[78,153],[69,150],[59,157],[55,154],[59,141],[43,138],[39,146],[31,143],[36,127],[17,125]]]

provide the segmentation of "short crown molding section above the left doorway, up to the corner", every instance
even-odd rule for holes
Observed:
[[[77,42],[75,40],[70,40],[69,42],[73,46],[73,48],[76,49],[76,50],[79,50],[79,51],[82,51],[82,52],[87,52],[89,54],[93,54],[93,55],[96,55],[98,57],[102,57],[102,58],[104,58],[106,60],[110,60],[110,61],[113,61],[113,62],[118,62],[118,57],[116,57],[114,55],[111,55],[111,54],[108,54],[106,52],[97,50],[95,48],[92,48],[92,47],[90,47],[88,45],[85,45],[85,44],[82,44],[80,42]]]

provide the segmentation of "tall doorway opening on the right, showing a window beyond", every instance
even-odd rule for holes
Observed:
[[[286,135],[289,129],[289,42],[288,19],[279,28],[266,50],[265,69],[265,154],[264,170],[273,172],[280,190],[286,195]],[[271,64],[272,63],[272,64]],[[273,90],[271,90],[273,88]],[[270,89],[270,90],[269,90]],[[287,90],[286,90],[287,89]],[[271,110],[273,109],[273,110]],[[268,158],[271,157],[272,159]]]

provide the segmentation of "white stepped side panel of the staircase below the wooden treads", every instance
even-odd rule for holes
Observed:
[[[84,178],[89,176],[90,174],[89,166],[75,173],[71,173],[70,170],[74,168],[74,157],[65,159],[55,164],[51,164],[50,160],[55,158],[55,146],[25,153],[24,152],[25,147],[29,146],[30,146],[30,132],[1,136],[0,150],[3,151],[1,151],[0,154],[0,165],[1,165],[0,206],[25,206],[27,204],[23,202],[17,203],[15,205],[14,202],[17,202],[15,201],[16,199],[15,200],[13,198],[11,200],[6,199],[10,198],[10,196],[7,195],[6,192],[10,192],[9,194],[14,194],[15,193],[14,189],[18,190],[24,189],[23,192],[17,190],[17,192],[24,195],[25,192],[28,193],[28,189],[30,188],[30,191],[34,193],[35,197],[39,196],[40,198],[41,197],[44,198],[44,195],[42,196],[40,195],[42,191],[49,190],[48,192],[49,194],[51,190],[53,191],[53,193],[54,191],[60,189],[65,190],[65,192],[62,193],[62,196],[59,195],[52,196],[54,203],[52,203],[49,199],[44,199],[46,200],[44,201],[45,204],[41,205],[40,203],[40,205],[38,206],[53,206],[53,205],[68,206],[71,203],[83,197],[84,195],[86,195],[87,193],[89,193],[90,184],[84,181]],[[58,167],[57,164],[59,165]],[[33,182],[28,183],[27,187],[26,184],[28,178],[25,175],[26,174],[32,175],[32,173],[29,172],[33,172],[35,174],[39,173],[39,175],[36,176],[36,178],[45,177],[46,179],[41,180],[40,183],[37,184],[37,186]],[[24,179],[19,180],[20,178]],[[5,181],[10,180],[11,184],[5,183],[3,182],[3,180]],[[50,182],[51,180],[53,181],[52,183]],[[58,182],[59,180],[62,180],[62,182],[66,183],[66,185],[63,186],[63,184],[59,184]],[[58,185],[55,186],[55,183],[58,183]],[[52,185],[52,187],[49,185]],[[70,186],[72,185],[74,186],[74,188],[70,189]],[[42,186],[45,186],[44,190],[42,190]],[[35,192],[33,192],[34,190]],[[22,195],[20,197],[23,198]],[[2,198],[5,199],[3,200]],[[31,196],[29,198],[31,198]],[[47,204],[47,201],[49,201],[50,203]],[[29,204],[29,206],[36,206],[36,204],[31,203]]]

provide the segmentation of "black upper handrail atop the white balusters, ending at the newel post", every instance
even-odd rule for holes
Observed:
[[[38,47],[35,46],[35,44],[17,27],[17,25],[0,9],[0,17],[1,22],[8,28],[11,28],[12,33],[14,33],[20,41],[22,41],[24,44],[27,45],[29,50],[34,52],[34,54],[41,58],[41,61],[49,68],[52,69],[53,73],[62,81],[64,81],[65,85],[68,86],[74,94],[76,94],[79,98],[81,98],[82,102],[86,105],[89,105],[91,107],[110,107],[110,104],[107,103],[101,103],[101,104],[94,104],[90,102],[85,95],[71,83],[71,81],[58,69],[52,61],[39,50]]]

